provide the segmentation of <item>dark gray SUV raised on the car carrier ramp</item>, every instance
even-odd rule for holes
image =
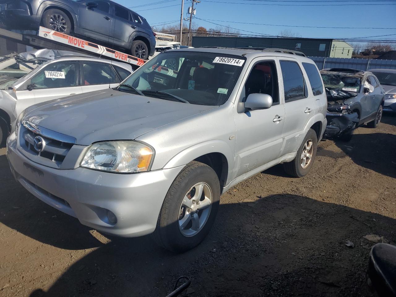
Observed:
[[[42,25],[84,36],[141,59],[155,52],[155,34],[146,19],[109,0],[0,0],[0,21],[10,29]]]

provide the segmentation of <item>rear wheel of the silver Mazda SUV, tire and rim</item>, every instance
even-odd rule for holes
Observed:
[[[318,137],[313,129],[309,129],[295,159],[284,164],[286,173],[294,177],[307,175],[314,164],[317,149]]]

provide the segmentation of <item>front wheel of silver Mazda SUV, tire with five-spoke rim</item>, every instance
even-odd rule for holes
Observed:
[[[187,208],[184,203],[190,204],[194,201],[194,195],[198,196],[199,186],[194,187],[197,184],[203,187],[199,200],[201,203],[199,205],[193,203],[191,208]],[[192,197],[188,198],[188,194]],[[208,203],[207,200],[209,194],[211,194],[211,203]],[[208,235],[215,221],[219,202],[220,183],[215,171],[206,164],[190,162],[177,175],[165,196],[158,216],[157,227],[152,234],[154,240],[159,246],[177,253],[198,246]],[[202,208],[196,210],[197,207]],[[190,214],[188,215],[188,213]],[[192,219],[196,216],[199,218],[198,225],[196,219]],[[190,217],[189,220],[188,217]],[[184,228],[182,227],[183,222],[185,222]],[[193,222],[196,223],[195,227],[192,225]]]

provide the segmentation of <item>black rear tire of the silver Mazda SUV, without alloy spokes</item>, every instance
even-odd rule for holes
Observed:
[[[304,168],[302,165],[301,156],[303,154],[303,151],[305,151],[306,149],[305,145],[308,143],[308,141],[312,141],[313,148],[312,150],[311,149],[308,150],[308,152],[309,151],[311,152],[310,153],[311,158],[307,164],[307,167]],[[297,156],[295,157],[295,159],[291,162],[284,164],[284,170],[286,171],[286,173],[293,177],[303,177],[307,175],[314,164],[317,149],[318,149],[318,137],[316,136],[316,132],[313,129],[309,129],[307,135],[305,135],[301,147],[297,151]]]

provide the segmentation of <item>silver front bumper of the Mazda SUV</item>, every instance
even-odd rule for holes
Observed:
[[[118,174],[87,168],[60,170],[32,162],[7,140],[7,158],[17,181],[50,206],[101,232],[135,237],[153,232],[165,195],[183,166]],[[112,211],[117,223],[110,223]]]

